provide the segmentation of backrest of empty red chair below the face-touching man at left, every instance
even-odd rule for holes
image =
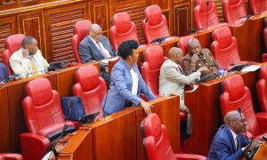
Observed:
[[[41,77],[26,85],[27,97],[22,101],[28,132],[47,136],[62,129],[65,120],[60,95],[52,90],[48,79]],[[72,122],[66,122],[74,126]]]

